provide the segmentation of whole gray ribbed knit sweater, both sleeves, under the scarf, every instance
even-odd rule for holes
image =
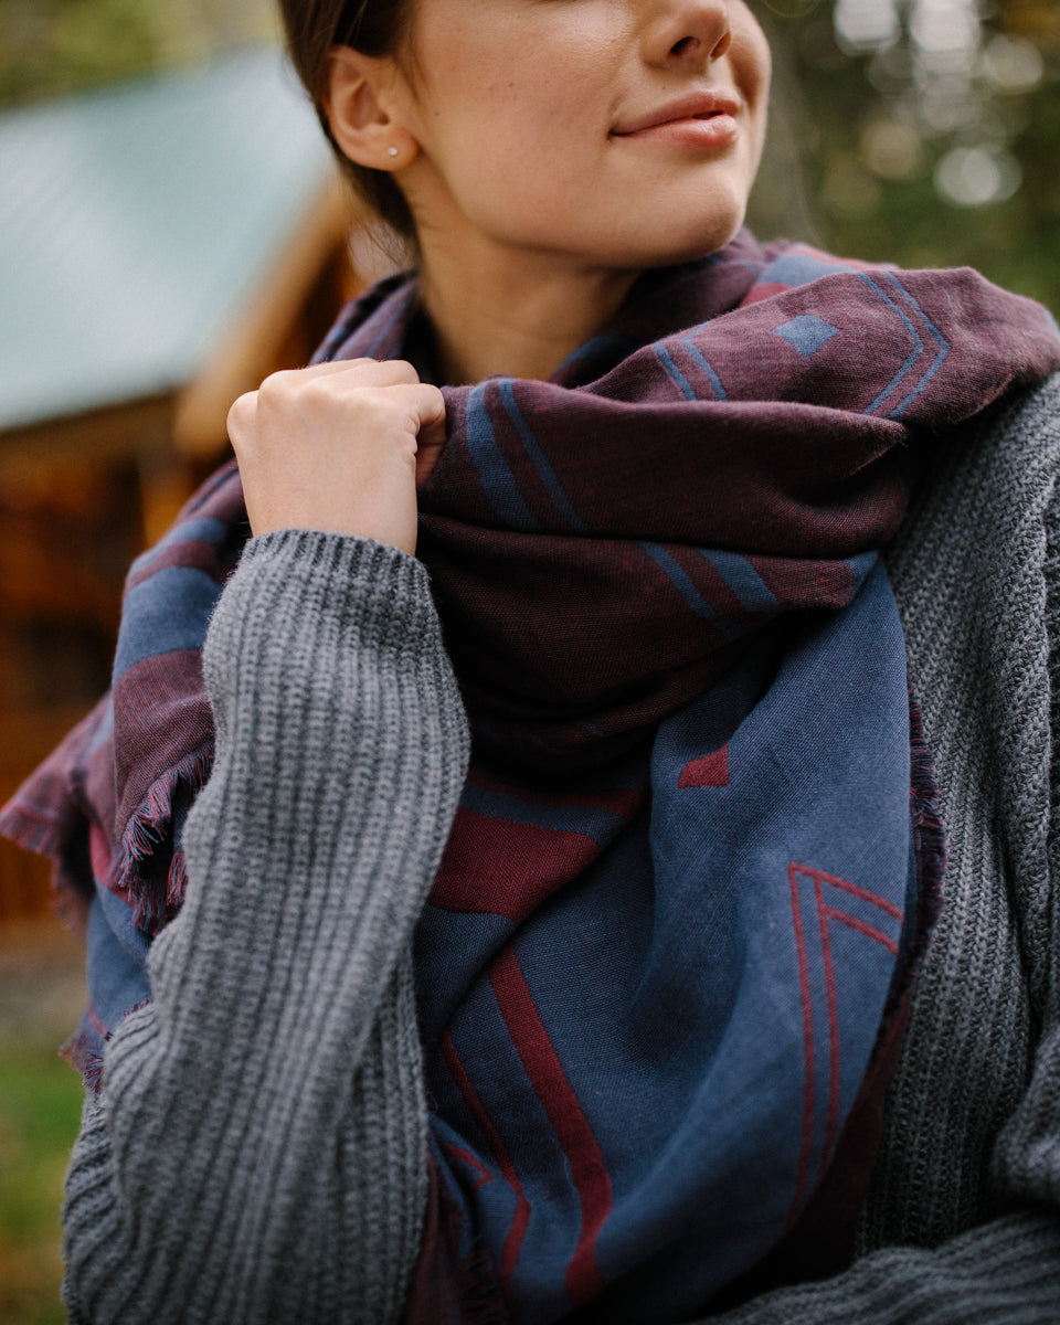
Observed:
[[[729,1325],[1060,1321],[1060,378],[938,452],[890,567],[946,906],[859,1259]],[[94,1325],[386,1325],[427,1200],[409,941],[466,763],[425,574],[359,539],[256,539],[205,672],[187,901],[86,1104],[66,1300]]]

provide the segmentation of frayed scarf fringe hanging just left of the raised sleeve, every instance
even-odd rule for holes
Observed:
[[[174,803],[182,791],[195,796],[205,784],[212,766],[212,758],[201,750],[186,755],[151,783],[122,832],[121,863],[114,882],[129,890],[132,922],[151,935],[174,918],[187,886],[184,852],[172,845]],[[164,878],[160,871],[151,873],[147,868],[156,860],[159,847],[168,847],[172,852]]]

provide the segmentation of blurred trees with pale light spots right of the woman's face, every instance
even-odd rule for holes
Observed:
[[[1060,309],[1060,4],[759,8],[778,62],[759,228],[905,266],[969,264]]]

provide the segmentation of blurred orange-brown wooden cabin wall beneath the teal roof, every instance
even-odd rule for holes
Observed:
[[[363,280],[341,242],[325,256],[269,371],[301,367]],[[159,439],[163,444],[166,439]],[[195,458],[83,445],[64,424],[9,444],[0,435],[0,804],[106,690],[129,563],[229,454],[220,433]],[[50,912],[50,865],[0,839],[0,928]]]

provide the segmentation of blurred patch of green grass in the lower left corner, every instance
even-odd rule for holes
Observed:
[[[61,1325],[62,1175],[81,1117],[78,1075],[53,1048],[0,1049],[0,1321]]]

